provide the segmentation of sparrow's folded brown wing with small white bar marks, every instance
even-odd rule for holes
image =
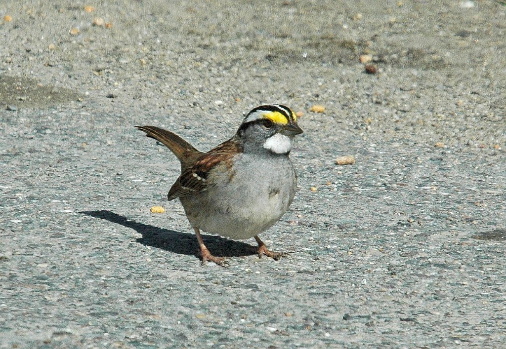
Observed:
[[[230,176],[232,157],[240,152],[242,152],[240,144],[229,140],[202,154],[191,167],[181,173],[181,176],[168,192],[168,200],[207,190],[208,186],[212,185],[207,178],[209,171],[220,163],[227,166]]]

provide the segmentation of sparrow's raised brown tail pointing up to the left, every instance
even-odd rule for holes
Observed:
[[[203,154],[190,143],[166,129],[148,125],[135,127],[144,131],[147,137],[154,138],[158,142],[163,143],[184,165],[191,165],[196,158]]]

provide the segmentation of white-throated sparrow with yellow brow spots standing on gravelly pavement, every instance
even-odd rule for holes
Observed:
[[[303,131],[290,108],[271,104],[252,109],[231,139],[207,153],[162,128],[136,127],[181,161],[181,176],[167,197],[181,200],[197,235],[202,264],[212,260],[227,265],[205,247],[201,230],[232,239],[254,237],[259,257],[284,255],[268,250],[258,235],[281,218],[296,192],[297,174],[288,154],[293,137]]]

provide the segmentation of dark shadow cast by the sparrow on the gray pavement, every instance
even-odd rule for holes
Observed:
[[[119,224],[126,228],[132,228],[142,235],[142,238],[138,238],[136,241],[145,246],[152,246],[165,251],[200,257],[195,234],[181,233],[175,230],[161,229],[148,224],[139,223],[108,210],[81,211],[79,213]],[[242,257],[257,253],[258,247],[256,246],[240,241],[229,240],[221,236],[202,235],[202,239],[207,249],[215,256]]]

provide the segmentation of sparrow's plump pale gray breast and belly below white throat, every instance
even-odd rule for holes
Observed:
[[[222,179],[207,191],[181,198],[193,227],[232,239],[248,239],[270,228],[288,210],[297,185],[288,159],[262,170],[254,165],[244,167],[230,182]]]

